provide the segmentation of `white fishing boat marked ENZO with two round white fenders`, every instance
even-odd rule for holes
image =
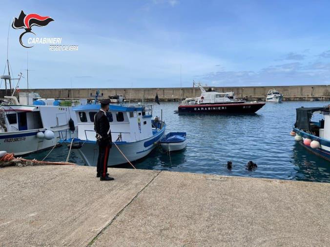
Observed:
[[[24,105],[15,96],[5,99],[9,103],[0,104],[0,150],[24,155],[53,147],[62,130],[75,136],[72,107]]]

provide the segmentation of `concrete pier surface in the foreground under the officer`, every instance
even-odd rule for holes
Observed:
[[[329,246],[330,184],[0,168],[0,246]]]

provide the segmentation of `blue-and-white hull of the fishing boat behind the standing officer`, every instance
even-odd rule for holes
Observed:
[[[148,155],[152,149],[156,147],[156,144],[164,136],[165,128],[156,133],[150,138],[144,139],[138,142],[123,143],[116,142],[119,149],[124,153],[125,157],[130,161],[139,160]],[[82,141],[83,143],[83,141]],[[96,166],[99,156],[99,145],[95,141],[86,141],[79,149],[73,149],[76,154],[79,154],[86,165]],[[115,144],[112,144],[112,148],[109,153],[108,166],[120,165],[127,163],[123,154],[118,150]]]

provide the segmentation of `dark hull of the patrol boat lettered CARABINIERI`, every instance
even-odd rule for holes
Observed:
[[[227,103],[179,105],[178,113],[246,114],[255,113],[265,103]]]

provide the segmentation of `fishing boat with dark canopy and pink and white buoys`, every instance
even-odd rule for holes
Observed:
[[[312,153],[330,161],[330,108],[300,107],[291,135]],[[312,121],[320,114],[318,121]]]

